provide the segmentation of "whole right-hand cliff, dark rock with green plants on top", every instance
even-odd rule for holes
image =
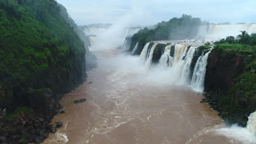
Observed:
[[[256,111],[255,44],[256,34],[223,39],[214,46],[206,68],[207,102],[225,121],[242,126]]]

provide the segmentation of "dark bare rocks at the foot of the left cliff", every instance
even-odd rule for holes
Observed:
[[[34,112],[21,112],[12,119],[2,119],[0,143],[41,143],[56,127],[49,121],[34,115]]]

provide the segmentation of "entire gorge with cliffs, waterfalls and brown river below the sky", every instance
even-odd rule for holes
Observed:
[[[255,24],[77,26],[54,0],[0,20],[0,143],[256,143]]]

